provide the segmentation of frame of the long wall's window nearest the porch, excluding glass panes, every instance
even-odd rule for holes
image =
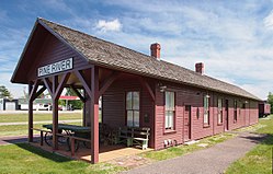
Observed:
[[[173,93],[173,109],[170,109],[170,108],[167,108],[167,93]],[[172,132],[172,131],[175,131],[175,113],[177,113],[177,102],[175,102],[175,92],[174,91],[164,91],[164,119],[163,119],[163,129],[164,129],[164,132]],[[166,117],[167,117],[167,112],[172,112],[172,125],[167,127],[166,126]],[[170,117],[170,116],[169,116]],[[169,120],[169,119],[168,119]],[[170,123],[169,123],[170,124]]]

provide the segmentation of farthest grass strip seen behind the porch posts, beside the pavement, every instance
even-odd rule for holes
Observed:
[[[33,118],[34,121],[52,120],[53,114],[34,113]],[[59,113],[59,120],[68,120],[68,119],[82,119],[82,113]],[[29,120],[27,114],[0,114],[0,123],[21,123],[27,120]]]

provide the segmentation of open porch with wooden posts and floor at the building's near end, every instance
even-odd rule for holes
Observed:
[[[58,143],[59,129],[62,126],[58,121],[58,98],[65,88],[72,89],[81,98],[83,103],[82,128],[84,128],[86,132],[89,132],[89,136],[84,138],[90,143],[90,149],[80,147],[75,154]],[[53,124],[50,126],[53,139],[50,147],[33,142],[33,130],[35,128],[33,127],[33,109],[31,106],[32,102],[45,90],[50,93],[53,98]],[[151,150],[153,146],[153,92],[146,79],[100,67],[39,78],[33,84],[30,84],[29,141],[33,146],[47,151],[98,163],[147,151],[120,143],[112,143],[112,146],[101,144],[101,132],[105,132],[101,131],[101,125],[106,125],[111,131],[114,130],[115,132],[124,126],[145,127],[150,130],[147,134],[149,138],[147,137],[148,140],[141,142],[148,143],[148,150]],[[127,106],[128,100],[132,100],[129,102],[129,107],[132,108]],[[71,137],[73,136],[75,130]]]

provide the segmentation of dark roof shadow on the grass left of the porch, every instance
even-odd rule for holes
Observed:
[[[55,162],[68,162],[68,161],[71,161],[71,159],[68,159],[68,158],[65,158],[65,156],[61,156],[61,155],[45,151],[45,150],[43,150],[41,148],[33,147],[33,146],[31,146],[29,143],[15,143],[15,146],[18,146],[21,149],[27,150],[31,153],[37,154],[37,155],[39,155],[42,158],[45,158],[45,159],[48,159],[48,160],[52,160],[52,161],[55,161]]]

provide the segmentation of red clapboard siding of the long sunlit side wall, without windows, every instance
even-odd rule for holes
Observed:
[[[156,90],[156,146],[155,149],[164,148],[164,140],[175,140],[178,143],[184,142],[183,132],[183,117],[184,106],[192,106],[191,118],[191,138],[201,139],[207,136],[220,134],[225,131],[225,101],[228,100],[228,130],[249,126],[258,123],[258,103],[250,101],[246,104],[246,108],[242,108],[242,104],[246,103],[246,98],[230,96],[226,94],[207,92],[196,88],[189,88],[184,85],[175,85],[166,83],[168,90],[175,92],[175,131],[171,134],[164,132],[164,96],[160,92],[159,88]],[[209,127],[204,127],[204,107],[203,96],[208,94],[209,97]],[[218,109],[217,98],[223,98],[223,124],[218,124]],[[234,103],[237,101],[237,121],[235,121]],[[197,114],[197,111],[200,112]],[[197,117],[200,115],[200,117]]]

